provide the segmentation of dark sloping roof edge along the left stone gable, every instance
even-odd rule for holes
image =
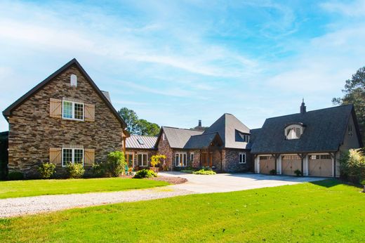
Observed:
[[[18,107],[19,105],[21,105],[30,96],[32,96],[34,93],[36,93],[41,88],[43,88],[46,84],[48,84],[49,81],[51,81],[53,78],[57,77],[59,74],[61,74],[65,70],[67,70],[72,65],[76,65],[76,67],[79,69],[79,71],[81,72],[81,74],[83,74],[84,77],[86,77],[86,80],[94,88],[95,92],[98,93],[98,95],[105,102],[105,104],[107,105],[107,107],[110,108],[110,111],[114,114],[115,117],[117,117],[118,121],[121,123],[121,126],[123,128],[126,128],[126,122],[118,114],[117,110],[114,109],[112,103],[110,103],[110,100],[108,100],[108,98],[105,96],[105,94],[103,94],[102,91],[100,91],[100,89],[98,88],[98,86],[96,86],[96,84],[94,83],[93,79],[91,79],[91,77],[88,76],[88,74],[86,73],[86,71],[84,70],[84,68],[81,67],[80,63],[76,60],[76,58],[70,60],[68,63],[66,63],[65,65],[63,65],[59,70],[53,72],[53,74],[51,74],[49,77],[47,77],[46,79],[44,79],[44,81],[41,81],[41,83],[37,84],[36,86],[34,86],[34,88],[32,88],[27,93],[25,93],[24,96],[18,98],[18,100],[16,100],[13,104],[9,105],[9,107],[7,107],[4,110],[4,112],[3,112],[3,115],[4,115],[5,119],[8,120],[8,116],[11,115],[11,112],[16,107]]]

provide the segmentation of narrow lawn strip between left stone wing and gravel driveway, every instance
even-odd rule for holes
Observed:
[[[0,199],[85,192],[112,192],[168,185],[164,181],[128,178],[0,181]]]

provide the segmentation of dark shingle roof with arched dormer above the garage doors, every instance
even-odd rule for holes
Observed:
[[[343,143],[350,116],[355,116],[353,105],[341,105],[304,114],[288,114],[266,119],[255,138],[251,152],[334,152]],[[286,140],[284,129],[288,124],[303,123],[305,130],[299,139]],[[360,145],[359,126],[354,119]]]

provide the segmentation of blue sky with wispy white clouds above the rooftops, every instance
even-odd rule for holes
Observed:
[[[229,112],[253,129],[302,97],[331,106],[364,43],[364,0],[0,0],[0,110],[77,58],[117,109],[185,128]]]

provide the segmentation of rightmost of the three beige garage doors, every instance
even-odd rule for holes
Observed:
[[[310,155],[309,156],[309,175],[310,176],[333,176],[332,158],[330,155]]]

